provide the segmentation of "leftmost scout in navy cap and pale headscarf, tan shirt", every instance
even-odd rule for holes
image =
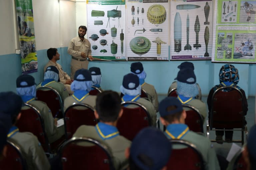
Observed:
[[[52,117],[52,112],[43,101],[35,100],[36,85],[35,79],[30,75],[21,75],[16,80],[16,90],[21,96],[24,103],[29,103],[36,107],[44,122],[45,132],[48,137],[49,143],[52,143],[64,135],[64,126],[57,128],[57,119]],[[28,109],[28,106],[23,106],[22,110]]]

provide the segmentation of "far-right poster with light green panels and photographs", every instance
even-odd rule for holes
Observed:
[[[213,62],[255,63],[256,1],[215,3]]]

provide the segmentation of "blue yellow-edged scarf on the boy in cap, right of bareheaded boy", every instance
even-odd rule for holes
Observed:
[[[186,124],[169,124],[165,130],[165,135],[169,139],[182,139],[189,132]]]

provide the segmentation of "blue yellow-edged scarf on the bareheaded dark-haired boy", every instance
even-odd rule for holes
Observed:
[[[112,139],[119,135],[119,131],[115,126],[111,126],[102,122],[97,123],[95,129],[103,140]]]

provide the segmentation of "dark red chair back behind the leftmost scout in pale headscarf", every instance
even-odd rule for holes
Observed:
[[[21,110],[20,119],[17,121],[16,126],[20,132],[31,132],[41,143],[45,152],[50,152],[48,138],[45,132],[44,120],[39,110],[29,103],[24,103],[28,109]]]

